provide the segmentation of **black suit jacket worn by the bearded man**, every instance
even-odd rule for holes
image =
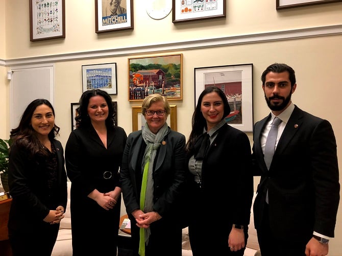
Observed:
[[[336,140],[331,124],[295,106],[267,171],[260,144],[271,114],[253,129],[255,175],[261,175],[254,202],[255,227],[261,225],[268,189],[270,225],[284,239],[334,237],[339,183]]]

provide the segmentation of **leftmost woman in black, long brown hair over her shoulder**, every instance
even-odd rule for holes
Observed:
[[[46,99],[33,100],[11,131],[8,231],[14,256],[51,255],[54,248],[67,200],[58,131]]]

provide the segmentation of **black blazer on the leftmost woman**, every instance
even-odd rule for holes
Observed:
[[[67,188],[66,172],[62,144],[53,140],[58,161],[57,186],[54,191],[48,189],[45,164],[18,148],[14,143],[9,155],[9,186],[13,197],[9,215],[9,233],[20,231],[30,233],[36,228],[50,210],[63,206],[66,210]]]

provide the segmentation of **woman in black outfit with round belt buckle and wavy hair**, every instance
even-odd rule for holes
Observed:
[[[71,181],[72,254],[116,255],[121,206],[119,168],[127,135],[114,122],[112,98],[106,91],[87,90],[79,103],[77,129],[71,132],[65,147]]]

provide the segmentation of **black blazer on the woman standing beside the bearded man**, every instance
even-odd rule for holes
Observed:
[[[234,127],[225,124],[217,131],[202,164],[201,193],[193,186],[190,202],[201,195],[201,202],[193,209],[201,208],[201,216],[218,218],[221,231],[228,237],[232,224],[247,226],[250,223],[253,198],[252,153],[248,136]],[[191,156],[188,156],[188,158]],[[191,185],[192,184],[192,185]],[[229,209],[226,211],[225,209]],[[190,209],[191,211],[191,209]],[[196,210],[197,211],[197,210]],[[197,213],[192,213],[192,216]],[[222,215],[224,214],[224,216]],[[190,216],[191,220],[191,216]],[[212,228],[210,225],[207,228]]]

